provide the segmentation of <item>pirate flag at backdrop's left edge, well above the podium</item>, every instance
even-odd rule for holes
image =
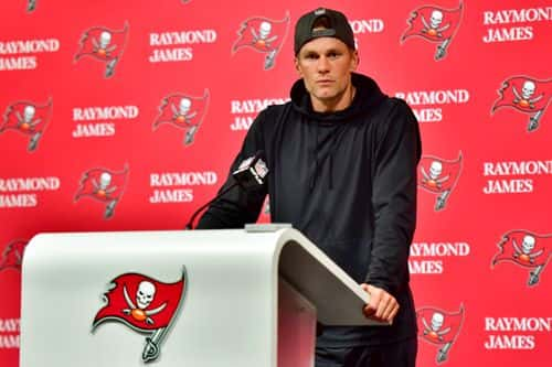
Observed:
[[[52,99],[39,105],[32,101],[17,101],[6,109],[0,125],[0,133],[15,130],[30,137],[26,150],[33,152],[52,117]]]

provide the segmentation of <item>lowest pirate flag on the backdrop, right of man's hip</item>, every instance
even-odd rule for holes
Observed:
[[[416,310],[418,337],[439,347],[438,364],[448,359],[448,353],[456,342],[464,323],[464,306],[458,312],[446,312],[436,307]]]

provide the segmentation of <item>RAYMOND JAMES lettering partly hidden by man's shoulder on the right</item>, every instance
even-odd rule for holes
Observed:
[[[443,120],[443,106],[467,104],[469,91],[467,89],[397,91],[395,97],[404,99],[413,107],[412,110],[420,122],[439,122]]]

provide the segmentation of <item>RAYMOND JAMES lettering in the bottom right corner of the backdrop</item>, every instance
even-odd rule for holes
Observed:
[[[491,332],[485,349],[534,349],[538,333],[552,331],[552,317],[485,317],[485,331]]]

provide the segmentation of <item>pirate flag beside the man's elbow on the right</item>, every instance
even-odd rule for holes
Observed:
[[[455,161],[423,155],[418,170],[418,186],[437,195],[435,212],[444,209],[460,176],[461,152],[458,153],[458,159]]]

